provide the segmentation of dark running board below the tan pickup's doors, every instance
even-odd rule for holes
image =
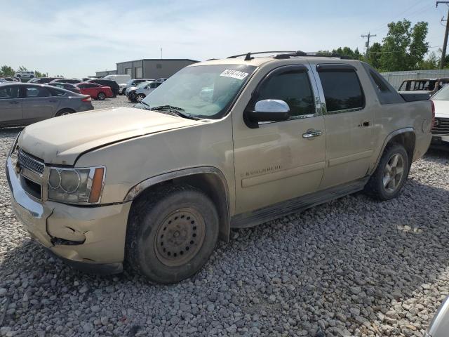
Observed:
[[[324,204],[325,202],[344,197],[345,195],[355,193],[363,190],[369,177],[355,180],[351,183],[330,187],[327,190],[314,192],[303,195],[295,199],[281,201],[272,206],[267,206],[255,211],[237,214],[231,219],[232,228],[248,228],[261,223],[266,223],[269,220],[281,218],[291,213],[304,211],[313,206]]]

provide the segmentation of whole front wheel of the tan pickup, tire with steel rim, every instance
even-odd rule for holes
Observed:
[[[187,185],[147,195],[133,205],[128,218],[126,264],[156,283],[191,277],[206,264],[217,243],[213,202]]]

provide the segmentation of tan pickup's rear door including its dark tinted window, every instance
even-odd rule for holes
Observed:
[[[358,78],[363,68],[324,64],[316,66],[314,74],[326,100],[323,190],[367,175],[373,157],[375,110],[373,104],[366,104]]]

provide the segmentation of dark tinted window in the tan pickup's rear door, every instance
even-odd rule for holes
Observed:
[[[328,112],[364,107],[365,98],[355,70],[326,70],[319,76]]]

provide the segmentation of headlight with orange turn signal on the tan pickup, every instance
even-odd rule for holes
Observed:
[[[48,199],[68,204],[98,204],[106,169],[51,168],[48,175]]]

